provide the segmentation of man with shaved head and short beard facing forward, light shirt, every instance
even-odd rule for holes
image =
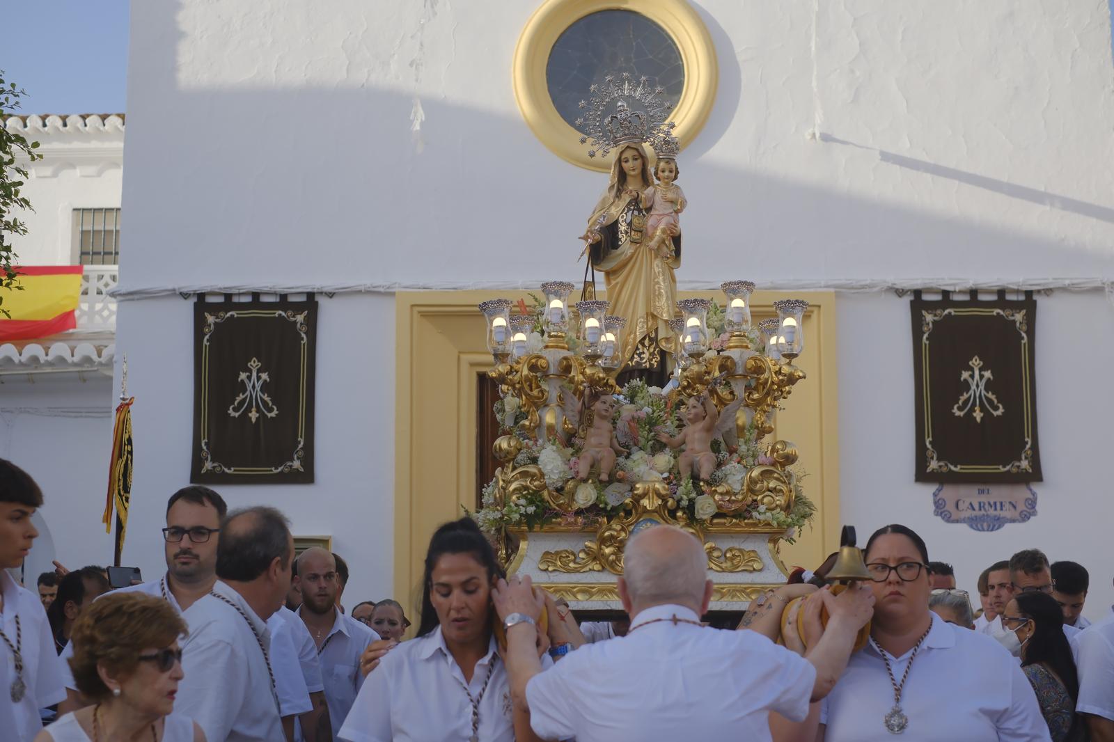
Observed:
[[[360,655],[369,644],[379,638],[379,634],[336,609],[340,579],[336,559],[331,553],[316,546],[302,551],[297,557],[294,580],[302,593],[297,615],[317,645],[325,703],[329,705],[329,719],[335,734],[340,732],[341,724],[363,685]]]

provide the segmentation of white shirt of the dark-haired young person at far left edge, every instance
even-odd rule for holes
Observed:
[[[16,584],[7,569],[0,569],[0,594],[3,612],[0,629],[19,650],[23,658],[21,677],[26,691],[18,703],[11,700],[16,682],[16,657],[8,642],[0,640],[0,738],[12,742],[31,742],[42,729],[39,709],[66,699],[61,664],[55,650],[55,636],[39,596]],[[16,618],[19,617],[19,631]]]

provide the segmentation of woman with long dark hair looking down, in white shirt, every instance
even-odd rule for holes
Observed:
[[[491,588],[504,576],[471,518],[438,528],[426,551],[418,636],[397,645],[368,675],[340,738],[536,740],[529,717],[511,702],[496,648]]]

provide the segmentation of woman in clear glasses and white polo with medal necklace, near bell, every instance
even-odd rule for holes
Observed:
[[[911,529],[874,531],[863,556],[874,615],[867,646],[824,699],[818,742],[1047,742],[1033,689],[988,636],[928,608],[928,549]]]

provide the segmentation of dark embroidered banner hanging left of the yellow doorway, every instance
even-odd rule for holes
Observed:
[[[189,481],[313,481],[317,302],[194,306],[194,443]]]

